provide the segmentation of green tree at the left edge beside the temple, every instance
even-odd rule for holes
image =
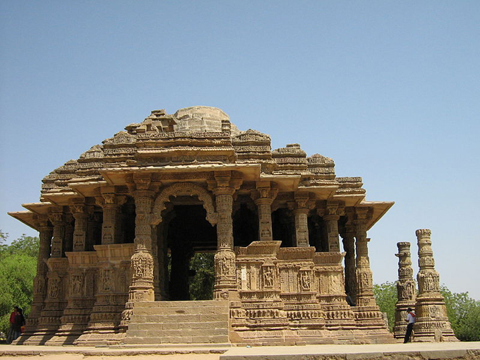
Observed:
[[[38,238],[25,235],[7,245],[7,236],[0,230],[0,330],[5,333],[13,306],[30,313],[39,245]]]

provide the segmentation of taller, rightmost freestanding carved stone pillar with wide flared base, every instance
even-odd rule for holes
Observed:
[[[419,273],[416,281],[419,294],[416,296],[416,322],[413,342],[458,341],[448,321],[447,309],[440,294],[440,275],[435,270],[431,231],[416,230],[419,246]]]

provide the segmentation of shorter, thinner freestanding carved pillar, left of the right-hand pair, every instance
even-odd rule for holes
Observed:
[[[398,253],[398,282],[397,304],[395,304],[395,326],[393,334],[396,339],[403,339],[407,331],[407,308],[415,308],[415,281],[412,260],[410,259],[410,243],[397,243]]]

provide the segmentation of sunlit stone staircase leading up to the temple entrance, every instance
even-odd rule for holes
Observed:
[[[228,301],[138,302],[125,344],[225,344],[229,342]]]

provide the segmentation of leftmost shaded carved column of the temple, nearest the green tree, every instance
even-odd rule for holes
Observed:
[[[50,256],[50,244],[52,242],[53,228],[45,215],[38,217],[40,229],[40,248],[38,249],[37,275],[33,279],[32,310],[27,318],[27,326],[24,335],[32,335],[38,324],[38,318],[44,307],[47,295],[47,259]]]

